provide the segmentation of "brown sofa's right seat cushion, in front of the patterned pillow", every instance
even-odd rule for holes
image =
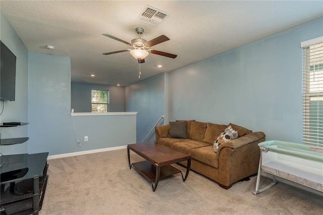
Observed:
[[[201,147],[191,150],[191,157],[194,160],[207,164],[214,168],[219,168],[219,159],[213,152],[213,146]]]

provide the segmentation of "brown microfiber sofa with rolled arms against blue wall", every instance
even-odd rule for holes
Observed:
[[[252,132],[232,123],[186,121],[187,138],[169,137],[170,124],[155,126],[155,136],[159,144],[189,154],[192,157],[191,170],[218,182],[225,189],[258,172],[258,143],[265,140],[263,132]],[[238,131],[238,138],[221,144],[217,153],[214,152],[213,142],[230,125]],[[181,164],[186,166],[186,162]]]

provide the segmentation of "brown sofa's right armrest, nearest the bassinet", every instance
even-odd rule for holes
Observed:
[[[260,149],[258,143],[265,140],[263,132],[251,132],[225,142],[218,148],[218,183],[231,186],[234,182],[258,172]]]

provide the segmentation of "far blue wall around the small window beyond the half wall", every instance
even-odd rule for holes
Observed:
[[[92,112],[91,90],[109,90],[109,112],[125,111],[124,87],[74,83],[71,84],[71,108],[74,112]]]

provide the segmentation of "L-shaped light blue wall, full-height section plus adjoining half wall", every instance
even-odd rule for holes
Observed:
[[[72,118],[69,56],[29,51],[28,64],[29,154],[60,155],[121,147],[136,141],[135,114]],[[80,147],[76,136],[80,142],[88,136],[89,141]]]

